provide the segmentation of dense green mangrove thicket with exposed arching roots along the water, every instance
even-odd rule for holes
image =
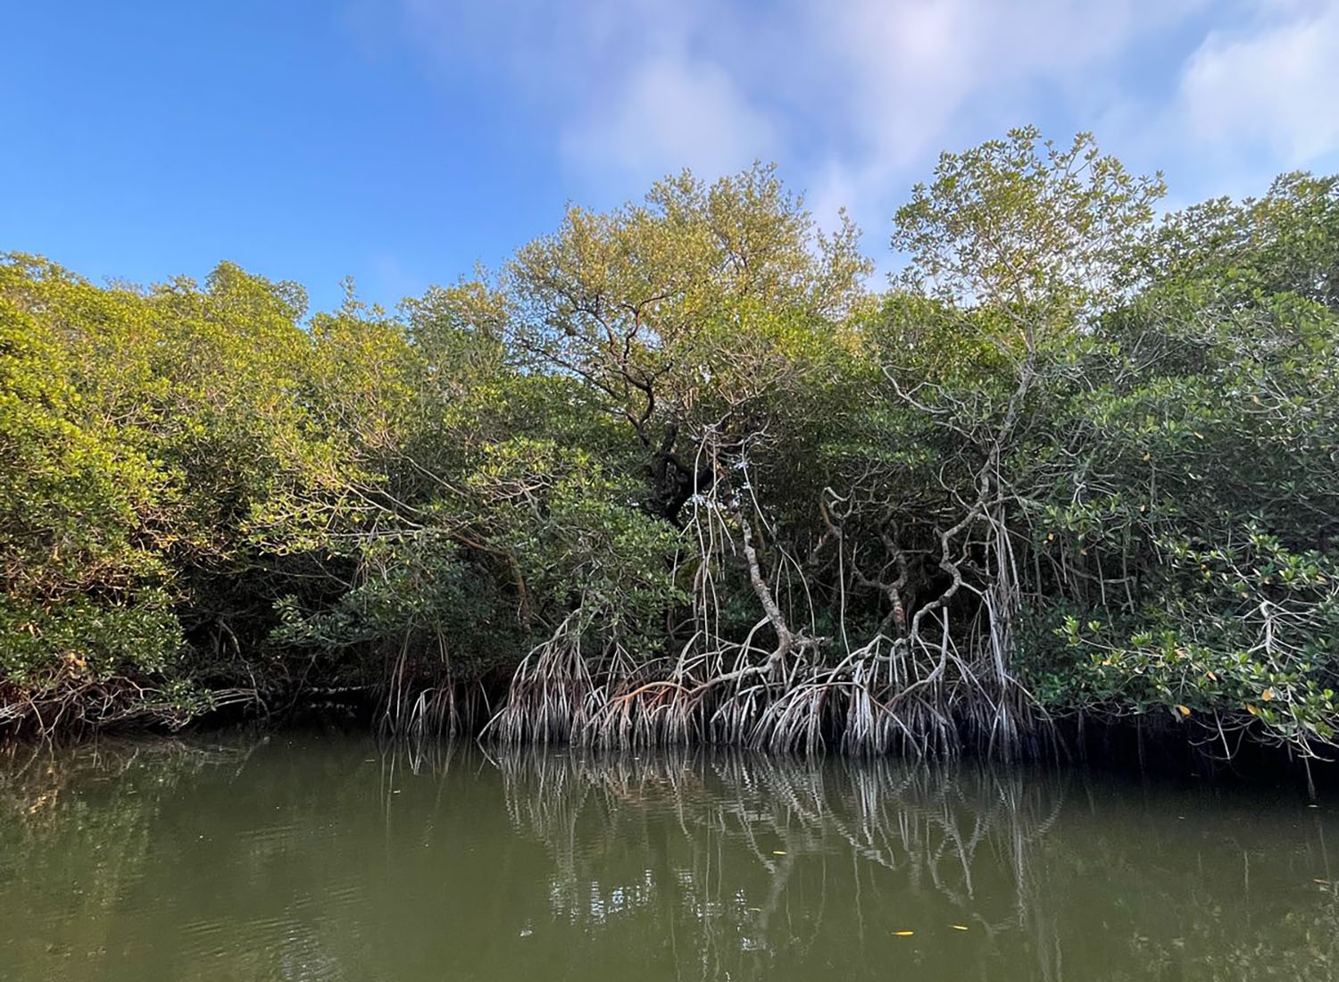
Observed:
[[[1032,130],[870,287],[775,173],[309,313],[0,265],[0,727],[360,694],[396,733],[1339,741],[1339,178],[1156,218]]]

